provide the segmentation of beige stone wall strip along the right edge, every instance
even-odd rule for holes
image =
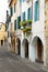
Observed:
[[[45,0],[45,41],[46,41],[46,64],[48,68],[48,0]]]

